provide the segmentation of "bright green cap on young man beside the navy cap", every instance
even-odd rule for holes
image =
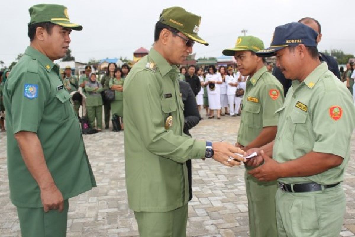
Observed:
[[[239,36],[237,42],[235,43],[235,47],[223,50],[223,54],[226,56],[234,56],[236,51],[251,50],[253,52],[257,52],[259,50],[263,50],[264,48],[264,43],[261,39],[255,36]]]

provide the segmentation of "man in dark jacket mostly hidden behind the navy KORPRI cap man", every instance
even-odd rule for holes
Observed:
[[[312,29],[314,29],[318,33],[318,36],[317,36],[317,39],[316,39],[317,44],[319,44],[319,42],[321,42],[321,38],[322,38],[321,24],[317,20],[315,20],[315,19],[313,19],[311,17],[305,17],[305,18],[302,18],[301,20],[299,20],[298,22],[301,22],[301,23],[305,24],[306,26],[309,26]],[[335,61],[335,59],[332,56],[320,53],[319,54],[319,59],[321,61],[326,61],[327,65],[328,65],[328,69],[330,71],[332,71],[333,74],[339,78],[339,80],[342,80],[341,76],[340,76],[340,72],[339,72],[338,63],[337,63],[337,61]],[[283,85],[283,87],[284,87],[284,95],[286,97],[287,91],[288,91],[288,89],[291,86],[291,80],[286,79],[284,77],[284,75],[282,74],[281,70],[278,67],[274,68],[274,71],[273,71],[272,74]]]

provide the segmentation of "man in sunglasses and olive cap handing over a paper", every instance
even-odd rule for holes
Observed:
[[[125,79],[125,165],[130,208],[141,237],[186,236],[189,184],[186,161],[213,157],[226,166],[245,159],[239,148],[184,136],[179,69],[196,42],[200,16],[181,7],[163,10],[154,46]],[[236,160],[233,160],[235,158]]]

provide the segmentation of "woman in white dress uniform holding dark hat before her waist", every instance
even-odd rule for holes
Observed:
[[[221,103],[220,103],[220,88],[222,84],[222,77],[214,65],[208,67],[208,74],[206,75],[209,117],[214,118],[214,111],[217,110],[217,119],[220,119]]]

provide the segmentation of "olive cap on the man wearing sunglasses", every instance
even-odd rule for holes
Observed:
[[[200,28],[201,16],[188,12],[182,7],[174,6],[164,9],[160,14],[159,21],[177,29],[197,43],[208,45],[206,41],[197,35]]]

